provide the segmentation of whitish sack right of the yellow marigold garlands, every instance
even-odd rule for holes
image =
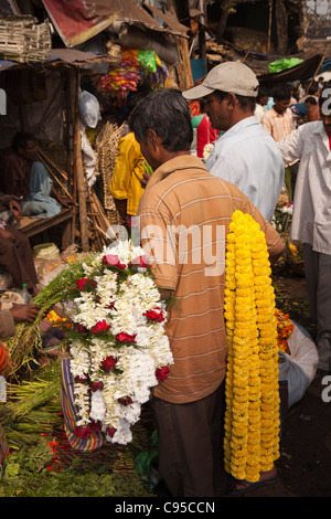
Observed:
[[[293,322],[293,321],[292,321]],[[279,351],[279,380],[288,382],[288,406],[301,400],[311,384],[319,357],[316,345],[308,331],[293,322],[295,329],[288,339],[290,354]]]

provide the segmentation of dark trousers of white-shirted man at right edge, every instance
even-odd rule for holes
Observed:
[[[309,311],[317,324],[319,368],[331,369],[331,255],[303,243]]]

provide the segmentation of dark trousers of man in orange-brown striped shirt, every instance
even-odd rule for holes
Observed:
[[[220,496],[224,437],[224,382],[196,402],[152,398],[159,473],[174,497]]]

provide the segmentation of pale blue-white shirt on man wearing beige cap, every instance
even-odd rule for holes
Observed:
[[[256,117],[241,120],[216,140],[207,170],[234,183],[270,222],[284,183],[284,163],[274,139]]]

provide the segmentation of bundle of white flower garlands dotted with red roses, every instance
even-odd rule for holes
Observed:
[[[164,304],[142,248],[119,242],[83,263],[66,320],[50,318],[62,320],[70,340],[75,433],[102,431],[111,443],[129,443],[141,404],[173,361]]]

